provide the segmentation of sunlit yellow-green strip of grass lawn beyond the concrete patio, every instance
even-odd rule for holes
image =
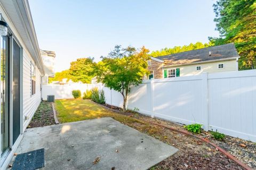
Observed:
[[[55,100],[58,120],[61,123],[90,120],[93,118],[113,117],[115,120],[125,124],[140,123],[139,120],[112,112],[102,106],[99,106],[91,100],[83,99],[61,99]]]

